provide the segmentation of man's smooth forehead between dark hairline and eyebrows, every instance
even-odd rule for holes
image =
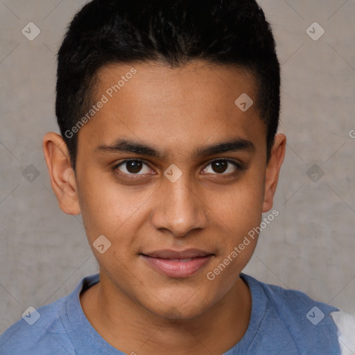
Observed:
[[[94,93],[94,104],[105,103],[80,130],[92,144],[111,144],[117,137],[181,149],[227,136],[266,142],[256,105],[246,111],[238,106],[239,97],[255,103],[254,78],[235,67],[200,61],[174,69],[156,62],[111,64],[98,72]]]

